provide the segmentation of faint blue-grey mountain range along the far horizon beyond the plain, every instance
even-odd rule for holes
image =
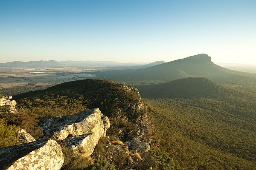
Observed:
[[[61,66],[106,66],[106,67],[113,67],[113,66],[129,66],[130,68],[146,68],[151,67],[154,65],[162,64],[164,61],[156,61],[146,65],[142,65],[141,63],[129,62],[129,63],[120,63],[116,61],[29,61],[29,62],[22,62],[22,61],[14,61],[14,62],[5,62],[0,63],[0,67],[61,67]]]

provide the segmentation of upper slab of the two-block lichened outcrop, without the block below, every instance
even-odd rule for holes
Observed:
[[[108,118],[103,116],[99,108],[96,108],[74,115],[42,119],[39,126],[46,136],[52,136],[55,140],[61,141],[66,139],[67,136],[96,133],[99,130],[96,127],[98,122],[102,125],[102,129],[100,129],[102,135],[108,129],[110,123]]]

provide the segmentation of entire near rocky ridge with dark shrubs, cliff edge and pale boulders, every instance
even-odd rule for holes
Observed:
[[[5,147],[0,148],[3,166],[15,166],[17,160],[24,167],[27,164],[35,167],[39,162],[47,169],[53,164],[56,170],[61,166],[66,170],[123,170],[128,166],[146,170],[143,162],[151,164],[150,159],[146,161],[140,156],[150,156],[146,152],[152,143],[153,125],[137,88],[111,80],[86,79],[19,94],[13,99],[17,100],[15,112],[6,111],[10,101],[4,101],[3,109],[0,106],[0,147]],[[17,126],[37,140],[19,145],[15,137]],[[4,146],[3,141],[7,141]],[[15,145],[14,142],[16,146],[8,147]],[[31,152],[36,153],[33,160],[29,157]],[[49,159],[45,160],[46,156]],[[106,159],[110,157],[111,164]],[[26,161],[20,161],[21,158]],[[95,164],[100,164],[98,168],[93,168],[92,158]],[[167,165],[176,167],[174,162]]]

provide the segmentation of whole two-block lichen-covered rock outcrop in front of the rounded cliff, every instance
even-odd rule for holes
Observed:
[[[61,146],[87,157],[93,153],[99,139],[106,136],[110,122],[96,108],[70,116],[46,118],[41,121],[40,126],[46,136],[53,137]]]

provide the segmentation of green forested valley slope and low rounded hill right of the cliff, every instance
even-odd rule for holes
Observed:
[[[256,168],[256,93],[248,87],[202,77],[137,86],[159,130],[155,147],[189,170]]]

